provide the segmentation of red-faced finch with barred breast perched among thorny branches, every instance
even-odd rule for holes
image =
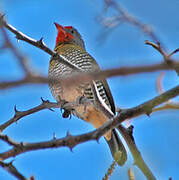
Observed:
[[[68,60],[82,72],[98,72],[100,67],[96,60],[86,51],[85,43],[80,33],[73,26],[63,26],[54,23],[57,29],[57,37],[54,51]],[[48,77],[61,78],[77,73],[77,70],[62,63],[60,59],[51,57]],[[114,100],[106,79],[94,80],[94,86],[104,107],[113,115],[116,114]],[[91,123],[94,128],[99,128],[109,120],[106,115],[95,106],[94,88],[90,82],[65,86],[57,81],[49,81],[49,87],[53,97],[58,103],[76,102],[78,98],[87,99],[90,104],[73,106],[71,110],[64,108],[63,117],[70,114]],[[127,155],[123,143],[115,129],[108,131],[104,138],[111,150],[112,156],[122,166],[126,162]]]

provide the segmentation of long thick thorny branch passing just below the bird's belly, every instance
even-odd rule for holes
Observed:
[[[152,109],[155,106],[160,105],[161,103],[167,101],[168,99],[174,98],[177,95],[179,95],[179,86],[176,86],[175,88],[166,91],[165,93],[153,98],[152,100],[149,100],[139,106],[136,106],[134,108],[130,109],[124,109],[121,110],[121,113],[118,114],[116,117],[111,119],[110,121],[106,122],[103,126],[100,128],[86,133],[82,135],[77,136],[71,136],[70,134],[67,134],[66,137],[60,138],[60,139],[53,139],[51,141],[46,142],[38,142],[38,143],[19,143],[18,145],[14,146],[12,149],[0,153],[0,159],[4,160],[9,157],[15,157],[19,154],[22,154],[24,152],[32,151],[32,150],[39,150],[44,148],[56,148],[56,147],[69,147],[72,149],[74,146],[89,141],[89,140],[98,140],[102,135],[104,135],[108,130],[119,126],[125,119],[127,118],[134,118],[136,116],[147,114],[149,115],[152,112]],[[56,105],[55,105],[56,107]],[[45,109],[45,107],[44,107]],[[39,109],[41,110],[41,109]],[[36,111],[37,112],[37,111]],[[9,144],[14,144],[15,142],[10,140],[10,138],[7,140],[0,136],[1,139],[3,139],[5,142]],[[17,142],[16,142],[17,143]],[[16,144],[15,143],[15,144]]]

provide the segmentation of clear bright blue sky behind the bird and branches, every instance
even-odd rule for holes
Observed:
[[[172,51],[179,47],[179,1],[150,0],[120,1],[131,14],[143,23],[152,26],[165,47]],[[2,0],[0,8],[6,14],[8,22],[27,35],[40,39],[50,47],[55,46],[56,29],[53,22],[72,25],[82,34],[88,52],[95,57],[103,69],[120,66],[153,64],[162,61],[158,52],[144,44],[150,40],[138,28],[122,25],[115,29],[102,44],[97,37],[102,27],[96,22],[101,14],[103,3],[97,0]],[[109,14],[115,14],[113,10]],[[40,73],[47,75],[49,55],[24,42],[17,43],[12,33],[8,33],[13,43],[22,50]],[[175,55],[175,58],[178,58]],[[17,79],[23,73],[16,64],[16,59],[8,51],[0,52],[0,80]],[[156,78],[159,72],[110,78],[109,85],[115,104],[122,108],[138,105],[157,95]],[[164,88],[168,90],[178,84],[175,72],[167,72]],[[0,91],[0,122],[9,120],[14,112],[14,105],[19,110],[32,108],[40,103],[40,97],[54,101],[47,85],[28,85],[20,88]],[[177,98],[175,99],[178,100]],[[158,180],[179,179],[179,139],[178,111],[162,111],[150,117],[140,116],[132,121],[134,137],[146,163]],[[53,133],[58,138],[71,134],[89,132],[91,125],[72,118],[61,117],[60,110],[44,110],[27,116],[17,124],[7,128],[6,134],[18,141],[44,141],[52,139]],[[0,142],[1,150],[7,150]],[[29,152],[15,158],[14,165],[26,176],[36,179],[102,179],[112,162],[109,149],[103,138],[100,143],[87,142],[74,148],[73,153],[67,148]],[[143,180],[141,172],[133,165],[129,153],[124,167],[117,167],[111,180],[127,179],[127,169],[134,170],[136,179]],[[0,169],[0,179],[14,178]]]

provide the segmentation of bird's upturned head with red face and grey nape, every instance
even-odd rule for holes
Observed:
[[[85,49],[84,42],[79,32],[72,26],[62,26],[54,23],[57,28],[57,38],[55,47],[61,44],[76,44]]]

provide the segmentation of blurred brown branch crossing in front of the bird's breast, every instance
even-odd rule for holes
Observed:
[[[174,66],[179,66],[178,63],[175,63]],[[4,81],[0,82],[0,89],[7,89],[18,87],[26,84],[46,84],[49,81],[60,81],[65,85],[74,85],[79,84],[82,82],[90,82],[92,80],[99,80],[107,77],[114,77],[114,76],[127,76],[139,73],[148,73],[148,72],[155,72],[161,70],[170,70],[173,67],[168,67],[165,63],[154,64],[149,66],[134,66],[134,67],[121,67],[121,68],[113,68],[108,70],[101,70],[100,72],[91,72],[91,73],[76,73],[73,76],[66,76],[61,77],[58,79],[49,79],[44,76],[40,75],[31,75],[26,76],[23,79],[16,80],[16,81]]]

